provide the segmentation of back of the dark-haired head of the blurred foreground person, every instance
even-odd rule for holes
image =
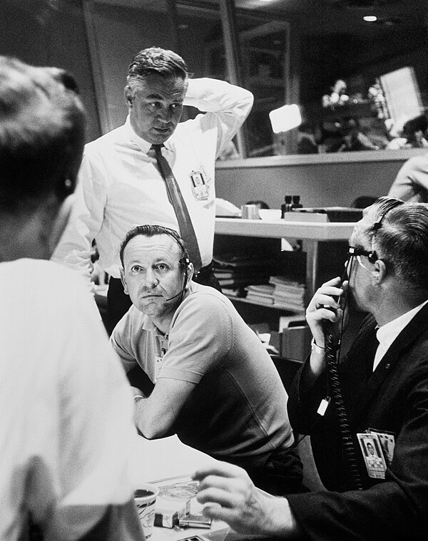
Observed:
[[[17,214],[74,189],[85,113],[73,77],[0,56],[0,212]]]

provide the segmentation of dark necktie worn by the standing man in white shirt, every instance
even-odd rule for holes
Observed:
[[[196,238],[192,220],[190,220],[188,207],[185,205],[185,200],[183,199],[178,182],[174,177],[174,173],[172,172],[169,163],[162,155],[162,147],[163,145],[152,145],[152,148],[155,151],[159,170],[161,171],[161,175],[165,181],[168,200],[170,204],[173,205],[175,216],[177,217],[178,227],[180,228],[180,235],[188,248],[189,259],[193,263],[196,274],[200,267],[202,267],[198,239]]]

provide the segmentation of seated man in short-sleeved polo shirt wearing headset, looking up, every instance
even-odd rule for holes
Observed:
[[[133,306],[111,344],[133,386],[141,434],[176,433],[245,468],[260,488],[299,490],[287,393],[258,336],[223,294],[192,282],[193,264],[175,231],[134,227],[120,256]]]

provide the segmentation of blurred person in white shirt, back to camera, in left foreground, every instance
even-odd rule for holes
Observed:
[[[143,540],[132,396],[75,272],[46,261],[84,143],[76,83],[0,57],[0,540]]]

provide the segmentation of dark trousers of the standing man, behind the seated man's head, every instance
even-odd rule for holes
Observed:
[[[210,286],[221,292],[218,279],[215,277],[213,264],[210,263],[206,267],[202,267],[198,274],[193,277],[193,282]],[[110,278],[108,281],[107,291],[107,314],[104,320],[106,330],[110,335],[113,332],[116,324],[131,307],[131,298],[123,291],[121,279]]]

